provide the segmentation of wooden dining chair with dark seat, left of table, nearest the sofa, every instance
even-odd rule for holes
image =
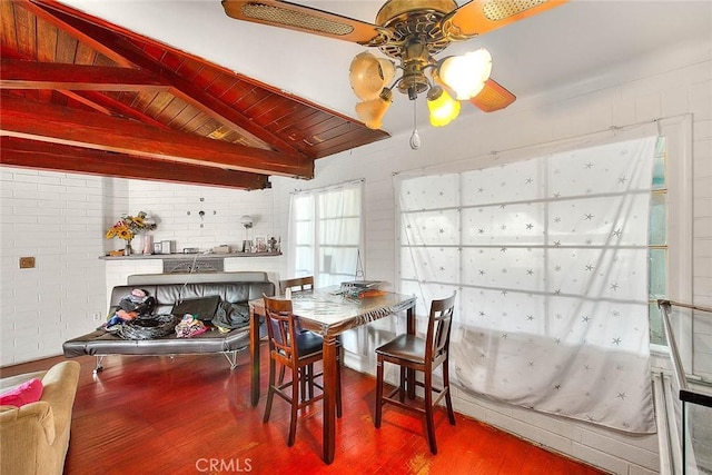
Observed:
[[[266,295],[263,295],[263,298],[269,340],[269,389],[263,422],[269,422],[275,395],[289,403],[291,415],[287,445],[291,447],[297,431],[298,410],[324,398],[323,384],[319,385],[315,382],[316,378],[323,376],[323,372],[314,374],[314,364],[324,359],[324,340],[315,333],[297,330],[295,316],[291,311],[291,300]],[[291,369],[291,380],[276,382],[277,364]],[[306,395],[307,386],[310,386],[308,397]],[[314,386],[322,389],[322,393],[315,396]],[[289,388],[290,392],[288,392]],[[299,397],[300,392],[301,398]],[[339,365],[336,365],[336,416],[342,417],[342,372]]]

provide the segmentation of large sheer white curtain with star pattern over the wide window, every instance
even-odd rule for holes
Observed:
[[[458,290],[455,384],[655,432],[647,227],[656,139],[397,181],[400,291],[422,297],[425,310]]]

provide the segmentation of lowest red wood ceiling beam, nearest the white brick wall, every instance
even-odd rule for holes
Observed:
[[[235,189],[264,189],[265,175],[224,170],[146,157],[0,137],[0,164],[52,171],[79,172],[140,180],[208,185]]]

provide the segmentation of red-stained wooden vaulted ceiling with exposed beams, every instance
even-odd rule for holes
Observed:
[[[0,4],[2,165],[263,189],[388,137],[53,0]]]

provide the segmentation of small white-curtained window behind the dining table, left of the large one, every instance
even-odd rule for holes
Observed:
[[[289,273],[323,287],[353,280],[362,269],[363,180],[291,196]]]

